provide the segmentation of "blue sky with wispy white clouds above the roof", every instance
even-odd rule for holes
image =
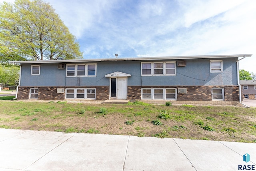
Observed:
[[[239,66],[256,74],[256,0],[45,1],[84,59],[254,54]]]

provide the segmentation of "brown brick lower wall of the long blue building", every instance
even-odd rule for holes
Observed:
[[[29,99],[30,88],[38,88],[38,99],[58,100],[65,99],[65,93],[57,93],[57,88],[79,87],[19,87],[17,99]],[[80,88],[96,88],[96,100],[109,99],[109,86]],[[127,99],[141,100],[141,88],[140,86],[128,86]],[[187,88],[186,94],[177,93],[178,101],[212,101],[212,88],[224,88],[225,101],[239,101],[238,86],[144,86],[143,88]]]

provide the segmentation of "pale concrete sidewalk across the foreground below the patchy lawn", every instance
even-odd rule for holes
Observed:
[[[0,171],[236,171],[256,163],[254,143],[15,129],[0,129],[0,153]]]

